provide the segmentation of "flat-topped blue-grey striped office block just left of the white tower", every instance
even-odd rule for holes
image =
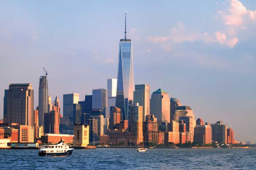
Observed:
[[[92,89],[92,110],[101,110],[104,118],[108,118],[108,91]]]

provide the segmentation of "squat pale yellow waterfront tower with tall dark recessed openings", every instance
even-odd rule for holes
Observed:
[[[89,125],[74,125],[74,146],[85,147],[89,144]]]

